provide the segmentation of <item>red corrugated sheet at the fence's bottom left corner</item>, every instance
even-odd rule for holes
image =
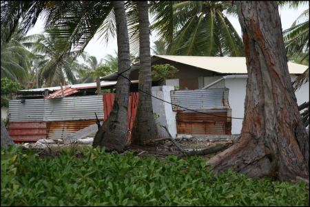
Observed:
[[[46,123],[43,121],[10,122],[8,132],[15,142],[38,141],[47,135]]]

